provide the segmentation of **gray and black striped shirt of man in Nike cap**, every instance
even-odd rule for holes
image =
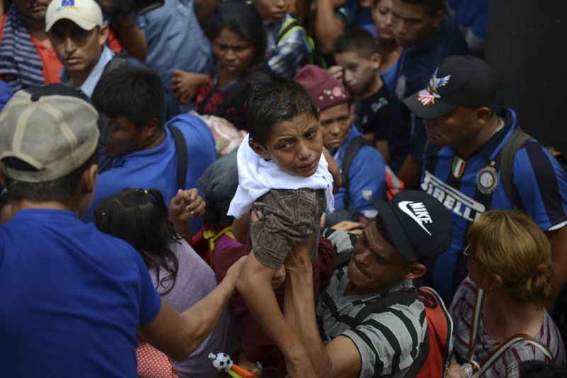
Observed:
[[[335,231],[329,237],[335,248],[356,243],[352,235],[341,231]],[[317,320],[323,343],[337,336],[350,338],[361,355],[360,377],[403,377],[425,337],[427,323],[422,302],[416,299],[409,306],[394,304],[378,314],[369,314],[361,322],[355,318],[361,309],[376,299],[413,287],[412,281],[401,282],[389,292],[344,297],[348,282],[347,267],[344,267],[333,275],[318,299]]]

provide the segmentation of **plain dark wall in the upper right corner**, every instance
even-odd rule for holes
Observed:
[[[490,0],[485,60],[520,127],[567,152],[567,1]]]

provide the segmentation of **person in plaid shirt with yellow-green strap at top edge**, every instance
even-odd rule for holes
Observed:
[[[268,65],[274,74],[288,79],[308,64],[311,57],[307,32],[288,13],[290,3],[290,0],[252,0],[266,26]]]

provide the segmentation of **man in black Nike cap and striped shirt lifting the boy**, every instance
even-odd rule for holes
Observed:
[[[292,302],[286,318],[319,377],[415,377],[421,368],[418,356],[428,343],[424,304],[396,297],[415,294],[412,280],[425,273],[425,260],[451,245],[451,215],[415,190],[374,205],[378,214],[358,238],[325,233],[338,261],[352,256],[316,305],[308,250],[301,245],[284,262]]]

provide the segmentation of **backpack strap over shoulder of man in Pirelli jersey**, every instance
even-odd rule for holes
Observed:
[[[529,139],[532,139],[531,135],[520,129],[515,129],[502,147],[502,151],[500,151],[500,178],[502,185],[504,185],[506,195],[514,207],[520,205],[520,195],[518,195],[516,185],[514,185],[512,167],[514,166],[516,152],[521,149]]]

